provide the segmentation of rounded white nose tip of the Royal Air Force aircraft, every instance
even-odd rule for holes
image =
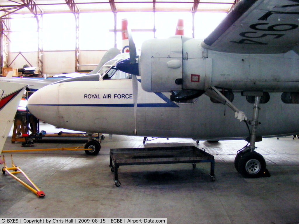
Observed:
[[[58,93],[59,84],[47,85],[37,90],[28,99],[28,110],[38,119],[59,126]]]

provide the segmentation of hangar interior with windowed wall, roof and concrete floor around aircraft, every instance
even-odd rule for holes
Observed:
[[[177,19],[181,18],[185,35],[204,38],[203,29],[214,27],[199,27],[216,17],[217,25],[236,2],[1,0],[1,73],[7,67],[18,69],[24,65],[38,67],[36,76],[93,70],[110,47],[121,49],[120,22],[124,18],[129,20],[137,46],[144,39],[173,35]],[[145,14],[148,17],[144,19]],[[161,30],[166,30],[166,34]],[[84,145],[85,134],[59,136],[70,130],[42,121],[39,125],[40,130],[55,135],[40,139],[29,149],[60,150],[17,152],[24,148],[22,142],[12,143],[11,131],[3,150],[16,152],[2,155],[10,165],[12,154],[14,164],[45,192],[45,197],[37,197],[9,175],[1,175],[1,218],[165,217],[167,223],[173,224],[299,223],[296,136],[257,142],[257,151],[265,157],[271,177],[250,179],[242,177],[234,164],[236,152],[247,144],[245,140],[149,138],[144,142],[143,137],[110,138],[103,134],[99,136],[100,153],[90,156],[82,150],[61,150]],[[115,186],[109,167],[111,149],[164,146],[194,146],[213,155],[216,180],[210,179],[209,163],[196,167],[187,163],[129,165],[120,166],[118,176],[122,184]]]

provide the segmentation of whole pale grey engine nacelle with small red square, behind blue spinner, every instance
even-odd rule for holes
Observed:
[[[178,35],[147,40],[139,58],[142,89],[172,92],[176,101],[200,96],[211,81],[211,60],[206,55],[196,39]]]

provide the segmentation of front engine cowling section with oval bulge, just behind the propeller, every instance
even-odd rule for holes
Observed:
[[[139,58],[141,86],[147,92],[181,90],[183,57],[181,36],[149,39],[142,44]]]

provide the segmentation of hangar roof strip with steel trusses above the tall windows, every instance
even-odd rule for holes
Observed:
[[[228,12],[238,0],[1,0],[0,16],[11,13],[127,11]]]

